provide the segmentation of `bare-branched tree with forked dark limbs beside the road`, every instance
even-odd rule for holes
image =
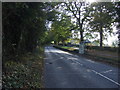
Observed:
[[[68,2],[65,3],[67,11],[71,12],[74,18],[77,20],[77,25],[80,31],[80,41],[84,41],[83,37],[83,23],[85,19],[89,16],[89,11],[87,11],[87,5],[85,2]]]

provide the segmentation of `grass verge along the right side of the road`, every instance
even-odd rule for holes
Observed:
[[[110,51],[103,51],[103,50],[98,52],[98,50],[94,50],[94,52],[86,52],[86,54],[81,55],[78,53],[79,51],[77,49],[73,49],[74,47],[68,47],[68,46],[55,46],[55,47],[58,49],[64,50],[64,51],[68,51],[73,54],[77,54],[77,55],[86,57],[91,60],[110,64],[115,67],[116,66],[120,67],[119,59],[117,57],[115,57],[115,55],[117,55],[117,52],[110,52]],[[114,54],[111,54],[111,53],[114,53]],[[111,56],[109,56],[109,55],[111,55]]]

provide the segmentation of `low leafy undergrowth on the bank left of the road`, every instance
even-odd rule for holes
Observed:
[[[2,88],[42,88],[43,72],[42,47],[35,53],[26,53],[15,59],[5,60],[2,73]]]

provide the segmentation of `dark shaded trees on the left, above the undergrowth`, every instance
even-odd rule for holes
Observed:
[[[43,45],[47,5],[42,2],[2,4],[3,55],[33,52],[38,44]]]

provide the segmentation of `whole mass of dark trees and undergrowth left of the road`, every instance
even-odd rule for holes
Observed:
[[[43,50],[36,48],[46,43],[47,5],[2,3],[3,88],[42,87]]]

